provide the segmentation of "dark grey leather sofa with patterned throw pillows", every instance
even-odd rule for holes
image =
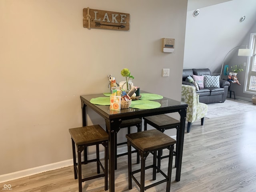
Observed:
[[[183,75],[182,75],[182,84],[195,86],[191,82],[187,82],[186,78],[188,76],[193,77],[193,75],[196,76],[212,76],[210,69],[184,69]],[[199,94],[199,102],[201,103],[214,103],[214,102],[225,102],[227,94],[228,94],[228,87],[230,86],[230,83],[227,80],[219,80],[219,88],[213,87],[213,88],[200,88],[197,90],[197,93]]]

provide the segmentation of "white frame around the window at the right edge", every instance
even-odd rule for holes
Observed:
[[[244,93],[247,94],[256,94],[256,90],[250,90],[250,77],[256,76],[256,72],[252,71],[254,60],[256,60],[256,33],[251,33],[250,35],[250,49],[254,49],[253,56],[247,58],[247,65],[246,65],[246,71],[245,71],[245,86],[244,86]]]

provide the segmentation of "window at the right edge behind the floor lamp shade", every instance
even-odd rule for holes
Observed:
[[[245,92],[256,93],[256,33],[251,33],[250,48],[253,49],[253,55],[248,57],[245,76]]]

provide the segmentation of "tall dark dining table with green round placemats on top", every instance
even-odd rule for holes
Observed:
[[[140,91],[143,93],[143,91]],[[146,92],[147,93],[147,92]],[[180,114],[180,130],[177,138],[176,149],[176,181],[180,181],[181,164],[182,164],[182,152],[184,143],[184,132],[185,132],[185,120],[186,120],[186,109],[188,104],[173,100],[170,98],[163,97],[159,100],[154,100],[161,104],[160,107],[154,109],[137,109],[128,108],[121,109],[120,111],[110,110],[108,105],[96,105],[92,104],[90,100],[92,98],[104,97],[103,94],[90,94],[81,95],[81,106],[82,106],[82,125],[87,125],[86,120],[86,107],[91,108],[98,113],[106,122],[106,130],[108,132],[108,149],[109,149],[109,191],[115,191],[115,154],[114,154],[114,133],[118,132],[119,125],[122,120],[128,120],[133,118],[142,118],[146,116],[168,114],[178,112]]]

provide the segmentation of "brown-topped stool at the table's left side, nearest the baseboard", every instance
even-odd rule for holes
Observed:
[[[79,128],[69,129],[72,140],[73,162],[74,162],[74,175],[75,179],[78,178],[79,192],[82,192],[82,182],[92,180],[99,177],[105,177],[105,190],[108,190],[108,134],[101,128],[100,125],[92,125]],[[99,144],[105,148],[104,163],[102,166],[100,162]],[[96,159],[81,161],[81,152],[87,147],[96,145]],[[76,162],[76,149],[78,153],[78,163]],[[97,163],[98,175],[82,178],[82,164],[89,162]],[[100,174],[100,167],[103,174]]]

